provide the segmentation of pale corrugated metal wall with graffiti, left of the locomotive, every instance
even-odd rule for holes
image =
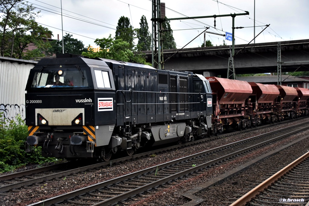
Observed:
[[[2,118],[25,119],[25,88],[29,71],[36,61],[0,57],[0,112]]]

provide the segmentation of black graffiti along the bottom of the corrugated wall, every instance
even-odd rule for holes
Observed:
[[[25,105],[9,105],[0,104],[0,113],[7,120],[15,120],[15,118],[20,115],[20,117],[26,119],[26,106]]]

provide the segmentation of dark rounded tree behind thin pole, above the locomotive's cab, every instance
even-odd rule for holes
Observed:
[[[85,47],[83,42],[78,39],[72,38],[72,36],[73,35],[68,33],[66,33],[66,35],[63,36],[64,52],[78,55],[81,55],[83,52],[86,52],[87,47]],[[50,45],[51,47],[45,51],[49,56],[53,56],[53,54],[62,53],[62,40],[53,40],[50,42]]]

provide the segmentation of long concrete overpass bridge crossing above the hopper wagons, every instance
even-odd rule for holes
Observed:
[[[236,74],[277,72],[278,42],[235,45]],[[240,51],[243,49],[242,51]],[[164,69],[226,77],[230,46],[163,50]],[[175,52],[179,51],[175,54]],[[238,54],[237,52],[240,51]],[[151,51],[146,60],[151,63]],[[175,54],[175,55],[174,55]],[[237,54],[237,55],[236,55]],[[174,55],[174,56],[172,56]],[[168,59],[171,57],[170,59]],[[281,42],[282,72],[309,71],[309,39]]]

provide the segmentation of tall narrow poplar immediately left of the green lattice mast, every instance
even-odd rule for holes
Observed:
[[[142,15],[141,22],[139,23],[140,28],[138,29],[137,38],[138,51],[149,51],[151,49],[151,35],[148,27],[146,17]]]

